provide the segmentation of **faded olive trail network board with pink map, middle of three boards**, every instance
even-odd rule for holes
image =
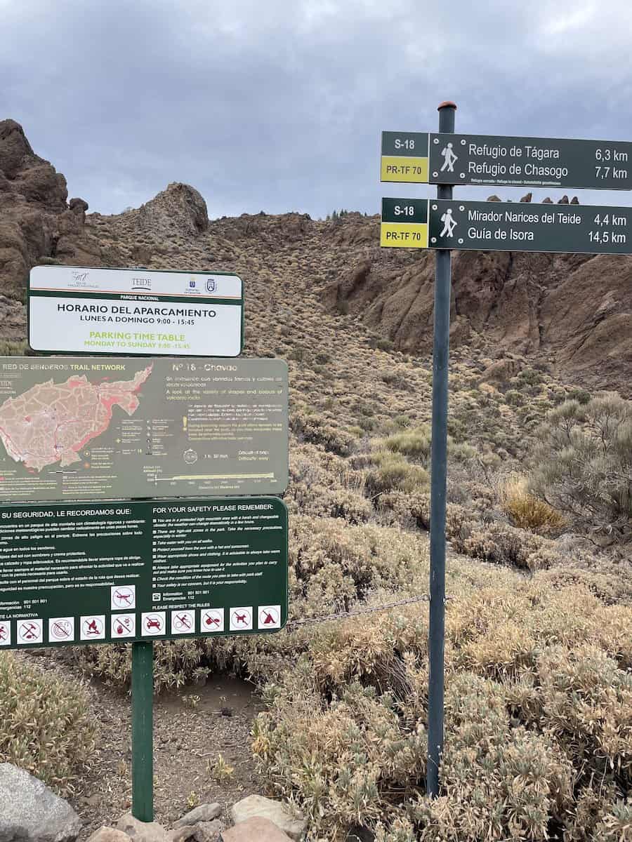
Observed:
[[[287,364],[0,357],[0,501],[282,493]]]

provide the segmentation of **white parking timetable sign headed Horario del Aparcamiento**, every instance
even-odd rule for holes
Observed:
[[[73,354],[236,357],[244,285],[236,274],[35,266],[29,345]]]

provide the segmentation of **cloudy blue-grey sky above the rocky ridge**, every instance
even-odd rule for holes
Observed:
[[[171,181],[210,216],[433,195],[381,185],[379,141],[436,131],[443,99],[457,131],[632,140],[632,0],[0,0],[0,19],[0,119],[102,213]]]

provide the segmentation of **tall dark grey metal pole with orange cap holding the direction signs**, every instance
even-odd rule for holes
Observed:
[[[439,131],[454,131],[457,106],[439,106]],[[448,168],[453,167],[449,150]],[[437,199],[452,199],[452,185],[437,186]],[[428,635],[428,770],[427,792],[439,794],[439,764],[443,751],[443,650],[446,594],[446,476],[447,476],[447,365],[450,342],[452,253],[437,251],[435,316],[432,345],[432,449],[430,514],[430,630]]]

